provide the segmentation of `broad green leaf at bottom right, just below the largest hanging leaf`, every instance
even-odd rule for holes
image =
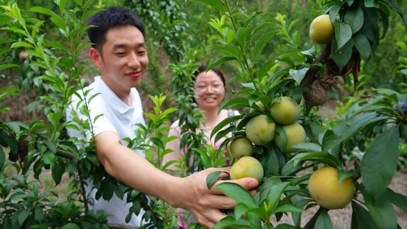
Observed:
[[[360,189],[370,216],[379,228],[396,228],[397,216],[393,206],[385,196],[373,199],[365,188]]]

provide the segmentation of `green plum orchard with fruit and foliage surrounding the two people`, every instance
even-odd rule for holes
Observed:
[[[0,228],[128,228],[89,209],[90,179],[98,198],[127,194],[133,206],[126,221],[143,209],[140,228],[203,228],[184,225],[188,213],[108,175],[96,156],[92,122],[76,120],[89,141],[67,134],[75,128],[65,119],[69,98],[89,93],[84,88],[97,75],[86,20],[108,6],[136,12],[147,30],[150,66],[137,88],[147,124],[122,141],[160,170],[175,174],[168,167],[176,166],[177,176],[214,167],[208,188],[237,203],[222,209],[226,215],[214,228],[407,227],[403,1],[0,0],[0,6]],[[214,127],[216,147],[205,144],[194,102],[199,63],[226,73],[219,112],[239,111]],[[90,119],[90,101],[80,101]],[[187,153],[163,164],[177,119]],[[245,177],[259,185],[248,191],[227,182]],[[214,185],[218,180],[226,182]],[[332,217],[343,212],[350,216],[345,221]]]

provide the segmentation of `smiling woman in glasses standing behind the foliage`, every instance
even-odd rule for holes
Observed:
[[[225,78],[222,72],[214,68],[206,72],[207,66],[199,66],[198,70],[194,73],[195,75],[195,85],[194,91],[197,94],[195,102],[198,108],[203,111],[203,122],[200,128],[205,134],[207,144],[212,145],[215,149],[218,149],[221,141],[215,142],[215,136],[210,138],[211,132],[214,127],[219,124],[222,120],[229,116],[239,115],[237,110],[221,110],[218,115],[218,109],[220,103],[225,97]],[[166,149],[172,149],[173,152],[164,156],[163,164],[171,160],[178,161],[183,158],[187,152],[187,149],[180,149],[181,144],[181,129],[179,127],[179,120],[175,121],[171,125],[171,129],[168,133],[169,136],[178,136],[178,139],[170,141],[166,145]],[[191,165],[193,158],[189,165]],[[179,170],[175,166],[171,165],[168,167],[171,170]]]

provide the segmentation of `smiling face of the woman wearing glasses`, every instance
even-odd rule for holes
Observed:
[[[222,79],[216,72],[201,72],[195,79],[195,98],[201,110],[218,109],[225,96],[225,88]]]

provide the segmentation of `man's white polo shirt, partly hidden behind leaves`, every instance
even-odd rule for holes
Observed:
[[[134,130],[137,128],[135,124],[146,124],[142,116],[140,96],[135,88],[132,88],[130,92],[133,103],[132,107],[127,106],[122,100],[120,100],[120,98],[110,90],[100,76],[96,76],[95,81],[88,87],[85,87],[83,91],[85,94],[86,91],[89,91],[89,93],[86,95],[86,101],[89,101],[92,96],[99,94],[96,95],[89,103],[90,117],[93,122],[95,136],[102,132],[114,131],[118,133],[120,139],[126,137],[135,138]],[[83,98],[81,91],[78,91],[78,94],[80,94]],[[72,104],[66,110],[67,121],[74,121],[76,119],[72,114],[73,109],[76,112],[77,118],[82,121],[88,120],[88,117],[84,116],[80,110],[76,108],[79,101],[80,99],[77,96],[72,96]],[[99,116],[101,114],[103,114],[103,116]],[[98,118],[95,121],[96,117]],[[81,129],[75,122],[72,124]],[[88,142],[91,139],[90,130],[78,131],[75,129],[68,129],[68,135],[71,137],[85,139]],[[126,141],[122,141],[122,144],[127,146]],[[135,152],[140,156],[145,157],[142,151],[136,150]],[[125,218],[129,213],[129,208],[132,206],[131,203],[126,203],[127,195],[125,195],[123,199],[120,199],[116,194],[113,194],[110,201],[105,201],[103,197],[96,200],[95,195],[97,190],[93,188],[91,182],[88,181],[88,183],[89,186],[85,186],[85,191],[89,198],[92,198],[94,202],[93,206],[90,206],[90,209],[95,211],[103,210],[109,215],[107,218],[108,223],[140,226],[141,217],[142,214],[144,214],[144,211],[142,210],[138,216],[133,214],[131,220],[128,223],[125,222]]]

